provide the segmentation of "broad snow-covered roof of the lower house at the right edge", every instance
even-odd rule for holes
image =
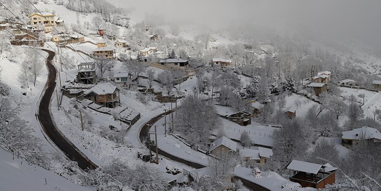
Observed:
[[[343,136],[341,139],[360,140],[360,139],[379,139],[381,140],[381,133],[371,127],[361,127],[350,131],[341,132]]]

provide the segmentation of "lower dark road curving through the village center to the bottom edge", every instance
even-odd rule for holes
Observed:
[[[163,115],[168,115],[168,114],[170,114],[170,113],[171,113],[171,112],[168,111],[167,113],[163,113],[163,114],[161,114],[161,115],[159,115],[159,116],[156,116],[156,117],[150,119],[147,123],[145,123],[145,124],[142,126],[142,128],[141,128],[141,130],[140,130],[140,133],[139,133],[139,137],[140,137],[140,138],[148,137],[148,130],[149,130],[149,128],[150,128],[150,125],[154,124],[156,121],[158,121],[160,118],[162,118]],[[150,125],[148,125],[148,124],[150,124]],[[141,141],[143,142],[142,139],[141,139]],[[147,146],[147,148],[149,148],[147,144],[146,144],[146,146]],[[155,148],[152,148],[152,150],[154,151]],[[174,156],[174,155],[172,155],[172,154],[170,154],[170,153],[168,153],[168,152],[165,152],[165,151],[161,150],[160,148],[158,148],[158,152],[159,152],[159,154],[162,155],[162,156],[165,156],[165,157],[167,157],[167,158],[170,158],[171,160],[174,160],[174,161],[183,163],[184,165],[193,167],[193,168],[195,168],[195,169],[201,169],[201,168],[206,167],[205,165],[201,165],[200,163],[193,162],[193,161],[189,161],[189,160],[186,160],[186,159],[184,159],[184,158],[180,158],[180,157]],[[240,179],[241,182],[243,183],[243,185],[246,186],[246,187],[248,187],[248,188],[251,189],[251,190],[256,190],[256,191],[257,191],[257,190],[258,190],[258,191],[270,191],[270,189],[267,189],[267,188],[265,188],[265,187],[263,187],[263,186],[261,186],[261,185],[259,185],[259,184],[256,184],[256,183],[254,183],[254,182],[251,182],[251,181],[249,181],[249,180],[246,180],[246,179],[244,179],[244,178],[242,178],[242,177],[234,176],[233,178],[234,178],[234,179],[237,179],[237,178]]]

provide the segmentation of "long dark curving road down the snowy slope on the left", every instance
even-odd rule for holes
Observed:
[[[69,159],[78,162],[78,166],[82,170],[96,169],[98,168],[95,163],[86,158],[78,149],[68,141],[58,132],[57,128],[54,126],[53,120],[49,112],[50,99],[56,87],[56,68],[52,64],[55,53],[51,50],[42,49],[48,52],[49,56],[46,60],[46,65],[48,68],[48,79],[47,84],[42,91],[43,96],[38,105],[38,113],[36,114],[37,120],[40,122],[43,131],[48,135],[48,137],[57,145],[62,152],[68,156]]]

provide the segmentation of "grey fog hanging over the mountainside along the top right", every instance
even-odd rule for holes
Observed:
[[[118,1],[118,0],[116,0]],[[308,31],[322,39],[379,45],[381,1],[355,0],[212,0],[121,2],[125,8],[163,18],[166,23],[198,23],[210,29],[241,23],[282,30]],[[150,18],[150,17],[148,17]],[[286,26],[286,28],[284,28]]]

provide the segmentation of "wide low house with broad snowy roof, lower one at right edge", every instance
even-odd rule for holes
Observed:
[[[381,133],[375,128],[364,126],[350,131],[343,131],[341,134],[341,143],[344,146],[357,145],[362,141],[381,145]]]

